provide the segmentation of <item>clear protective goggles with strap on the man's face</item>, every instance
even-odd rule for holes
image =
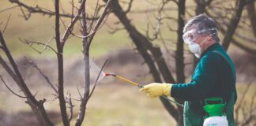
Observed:
[[[183,35],[183,40],[187,44],[193,44],[196,39],[200,36],[201,33],[205,31],[213,31],[216,32],[216,28],[202,29],[198,31],[197,29],[191,29],[190,31],[186,31]]]

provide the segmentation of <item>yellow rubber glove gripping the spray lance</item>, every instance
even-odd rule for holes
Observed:
[[[150,83],[141,88],[140,91],[145,92],[151,98],[161,95],[171,96],[171,85],[170,83]]]

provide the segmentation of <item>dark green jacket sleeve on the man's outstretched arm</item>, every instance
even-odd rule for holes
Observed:
[[[201,57],[190,83],[175,83],[171,87],[171,97],[185,101],[202,100],[213,89],[217,76],[216,54],[209,52]]]

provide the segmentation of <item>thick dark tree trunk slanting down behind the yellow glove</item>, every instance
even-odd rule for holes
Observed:
[[[106,0],[104,0],[106,2]],[[171,72],[168,69],[166,62],[164,61],[164,57],[160,51],[159,47],[152,46],[152,43],[142,35],[132,24],[130,24],[130,20],[126,17],[126,13],[122,10],[122,7],[119,5],[118,1],[114,2],[113,5],[113,13],[115,16],[119,18],[120,22],[126,28],[126,31],[129,33],[130,38],[133,40],[135,46],[137,46],[137,50],[140,52],[141,56],[145,59],[146,64],[149,66],[150,72],[152,73],[152,77],[155,82],[162,82],[160,79],[160,73],[163,75],[164,80],[168,83],[175,83],[174,78],[171,76]],[[152,56],[149,54],[151,52]],[[153,57],[153,58],[152,58]],[[156,69],[156,65],[154,64],[156,61],[157,67],[160,69],[160,72]],[[166,99],[161,98],[161,102],[164,107],[168,110],[168,113],[171,114],[175,120],[179,120],[179,113],[176,113],[176,109],[171,105]]]

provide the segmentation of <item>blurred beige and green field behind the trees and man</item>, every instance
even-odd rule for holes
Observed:
[[[51,12],[55,10],[54,1],[22,0],[24,4],[32,7],[39,6],[40,9]],[[71,1],[61,1],[60,12],[72,13]],[[256,29],[255,22],[255,2],[248,1],[243,4],[241,16],[237,26],[232,26],[232,20],[236,17],[239,0],[194,0],[194,1],[165,1],[165,0],[123,0],[116,1],[122,9],[127,10],[126,17],[130,24],[144,35],[153,46],[159,46],[167,62],[168,69],[177,78],[175,72],[177,63],[175,51],[179,42],[178,17],[183,17],[186,23],[190,17],[200,13],[200,6],[205,6],[201,13],[207,13],[218,22],[220,26],[220,40],[227,37],[226,32],[230,27],[235,28],[228,46],[228,54],[232,57],[237,71],[237,83],[239,98],[236,107],[237,122],[240,125],[243,121],[250,120],[246,125],[255,124],[255,89],[256,89]],[[179,2],[179,3],[177,3]],[[178,6],[182,2],[186,5]],[[209,3],[208,3],[209,2]],[[74,6],[79,6],[77,0],[73,1]],[[100,1],[100,5],[104,5]],[[248,6],[249,5],[249,6]],[[252,6],[251,6],[252,5]],[[96,9],[96,1],[86,2],[86,12],[91,17]],[[180,15],[179,9],[184,9],[184,14]],[[77,11],[75,9],[74,11]],[[102,9],[100,9],[100,12]],[[251,13],[249,13],[251,12]],[[61,17],[61,35],[70,24],[70,18]],[[0,29],[4,31],[3,36],[9,47],[13,58],[17,62],[21,74],[32,94],[36,98],[46,98],[44,106],[47,109],[50,119],[57,125],[62,125],[62,118],[59,112],[58,99],[55,98],[54,91],[42,75],[25,60],[24,57],[34,61],[36,65],[49,77],[52,83],[58,83],[58,64],[56,54],[51,50],[43,50],[44,46],[29,45],[23,43],[24,40],[47,43],[49,39],[55,37],[55,16],[43,13],[31,13],[25,7],[17,6],[11,0],[1,0],[0,2]],[[81,35],[81,24],[74,26],[73,33]],[[104,25],[96,32],[90,46],[90,59],[98,69],[108,59],[104,72],[115,72],[120,76],[133,80],[134,82],[147,84],[154,81],[145,59],[141,57],[137,50],[134,39],[130,37],[130,31],[120,22],[120,18],[113,11],[108,16]],[[77,117],[79,108],[79,91],[82,92],[84,83],[82,39],[71,35],[64,47],[64,85],[65,95],[70,92],[73,98],[74,117],[73,125]],[[222,43],[222,42],[220,42]],[[48,43],[53,48],[55,39]],[[183,46],[183,45],[182,45]],[[183,46],[184,76],[185,82],[190,81],[193,72],[194,56],[190,54],[186,45]],[[36,50],[43,50],[38,53]],[[5,54],[0,50],[2,57]],[[3,76],[9,87],[17,94],[22,94],[19,87],[11,79],[8,73],[0,66],[0,75]],[[92,76],[95,77],[95,76]],[[78,89],[77,89],[78,88]],[[0,81],[0,125],[23,126],[37,125],[36,117],[33,116],[30,107],[23,98],[13,95]],[[242,102],[241,102],[242,101]],[[248,113],[250,112],[250,113]],[[96,89],[89,99],[86,116],[83,125],[175,125],[176,120],[164,109],[158,98],[148,98],[134,87],[125,82],[115,80],[115,78],[104,77],[97,84]]]

